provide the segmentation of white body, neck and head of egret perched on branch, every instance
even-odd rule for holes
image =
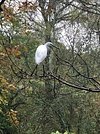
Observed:
[[[44,45],[38,46],[35,52],[35,62],[37,65],[39,65],[48,54],[49,46],[54,46],[51,42],[47,42]]]

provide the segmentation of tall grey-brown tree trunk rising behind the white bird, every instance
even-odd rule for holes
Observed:
[[[49,1],[47,9],[45,8],[45,2],[43,0],[39,1],[39,6],[41,8],[41,13],[44,18],[45,22],[45,42],[50,42],[51,41],[51,31],[52,31],[52,25],[50,23],[50,16],[51,16],[51,9],[49,9],[52,1]],[[44,65],[44,70],[46,73],[50,72],[50,53],[47,56],[45,60],[45,65]],[[50,126],[52,126],[52,118],[51,118],[51,113],[50,113],[50,106],[53,102],[54,95],[52,93],[52,83],[49,77],[45,78],[45,102],[43,106],[43,118],[42,118],[42,124],[41,124],[41,134],[46,134],[50,133],[47,132],[47,130],[50,130]],[[52,130],[50,130],[52,131]]]

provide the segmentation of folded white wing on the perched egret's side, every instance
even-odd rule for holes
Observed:
[[[40,45],[35,53],[35,62],[37,64],[41,63],[47,56],[47,48],[45,45]]]

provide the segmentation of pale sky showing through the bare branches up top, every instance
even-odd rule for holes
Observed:
[[[19,2],[25,2],[26,0],[13,0],[11,2],[11,6],[14,7],[15,11],[17,12],[18,10],[18,4]],[[36,0],[28,0],[29,2],[35,2]],[[37,11],[31,16],[32,21],[37,22],[37,23],[41,23],[43,21],[43,17],[41,15],[41,12],[39,9],[37,9]],[[31,22],[30,22],[31,24]],[[4,30],[9,30],[9,25],[4,27]],[[75,23],[74,25],[70,25],[69,22],[60,22],[58,24],[56,24],[55,30],[58,29],[57,31],[55,31],[57,37],[58,37],[58,41],[63,43],[66,47],[69,47],[71,45],[78,45],[80,44],[85,44],[83,45],[84,47],[87,44],[98,44],[98,39],[97,39],[97,35],[95,33],[92,34],[92,39],[91,42],[90,40],[88,40],[88,30],[83,27],[81,24],[78,25],[77,23]]]

